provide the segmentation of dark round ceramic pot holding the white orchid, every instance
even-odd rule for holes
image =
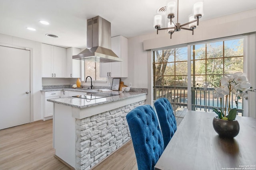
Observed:
[[[228,121],[218,119],[218,116],[212,120],[214,130],[220,135],[220,137],[233,138],[238,135],[240,126],[237,120]]]

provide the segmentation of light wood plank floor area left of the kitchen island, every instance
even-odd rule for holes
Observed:
[[[52,119],[0,130],[0,170],[69,170],[54,154]]]

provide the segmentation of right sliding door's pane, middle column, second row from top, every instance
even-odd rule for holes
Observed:
[[[207,74],[223,74],[223,59],[208,59],[206,64]]]

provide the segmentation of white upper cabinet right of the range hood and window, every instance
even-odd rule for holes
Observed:
[[[121,35],[111,38],[112,51],[122,62],[100,63],[100,77],[128,77],[128,40]]]

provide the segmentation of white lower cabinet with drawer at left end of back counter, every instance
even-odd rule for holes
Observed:
[[[42,104],[42,113],[43,113],[43,119],[48,120],[52,119],[53,115],[53,103],[48,102],[47,99],[54,99],[54,98],[60,98],[61,91],[51,91],[51,92],[44,92],[43,94],[43,104]]]

